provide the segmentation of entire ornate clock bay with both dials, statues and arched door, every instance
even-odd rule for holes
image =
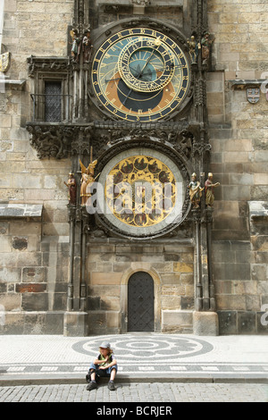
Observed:
[[[215,307],[206,1],[75,0],[73,10],[66,57],[28,58],[30,144],[39,158],[71,163],[64,333],[189,332],[191,309]],[[180,252],[190,262],[181,275]],[[135,262],[135,273],[111,261]],[[168,281],[155,261],[174,262],[159,268]]]

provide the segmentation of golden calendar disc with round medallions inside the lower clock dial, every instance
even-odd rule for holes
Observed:
[[[122,168],[131,171],[122,172]],[[175,206],[174,175],[166,164],[155,157],[129,156],[116,164],[109,175],[113,181],[110,178],[105,185],[106,203],[122,223],[138,228],[152,226],[162,222]],[[165,197],[164,182],[161,180],[171,184],[169,197]],[[148,188],[150,185],[152,189]]]

